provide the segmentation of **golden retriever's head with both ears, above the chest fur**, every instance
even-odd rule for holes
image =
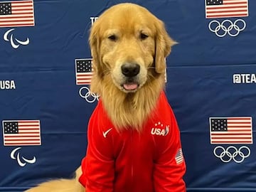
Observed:
[[[112,6],[90,32],[97,84],[92,91],[100,93],[100,80],[110,78],[122,92],[136,92],[152,77],[164,75],[165,58],[175,43],[164,23],[142,6]]]

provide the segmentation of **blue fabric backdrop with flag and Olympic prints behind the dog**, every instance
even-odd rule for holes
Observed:
[[[0,191],[68,178],[80,165],[98,98],[76,65],[90,62],[90,26],[120,2],[0,1]],[[187,191],[256,191],[256,1],[130,2],[178,41],[166,93]]]

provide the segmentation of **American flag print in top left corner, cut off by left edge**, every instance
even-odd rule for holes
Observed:
[[[0,27],[35,26],[33,1],[0,1]]]

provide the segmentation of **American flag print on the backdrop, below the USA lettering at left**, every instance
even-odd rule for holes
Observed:
[[[4,146],[41,145],[39,120],[4,120]]]

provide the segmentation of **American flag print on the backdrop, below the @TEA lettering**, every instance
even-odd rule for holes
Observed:
[[[252,144],[252,117],[210,117],[211,144]]]

